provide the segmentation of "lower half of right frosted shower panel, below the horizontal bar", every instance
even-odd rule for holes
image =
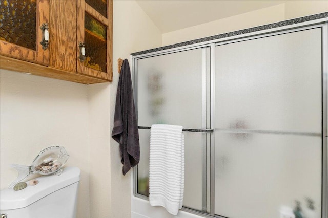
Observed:
[[[321,214],[321,138],[218,132],[215,213],[229,218],[280,218],[300,201]],[[280,213],[281,212],[281,213]],[[288,216],[287,216],[288,217]]]

